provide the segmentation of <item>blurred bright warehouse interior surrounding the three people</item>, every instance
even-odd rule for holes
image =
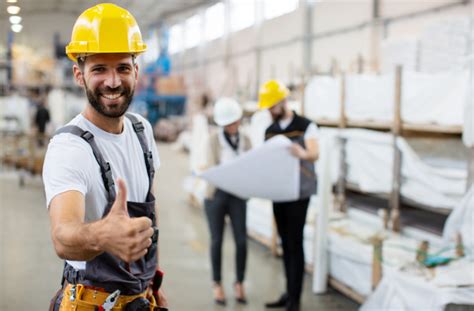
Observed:
[[[89,105],[65,47],[78,16],[105,2],[0,2],[0,310],[45,310],[64,261],[44,160],[56,130]],[[129,111],[150,123],[159,153],[170,310],[267,310],[284,288],[272,201],[295,182],[261,156],[273,120],[259,96],[272,80],[317,125],[300,310],[474,310],[474,1],[109,2],[135,17],[147,46]],[[209,168],[222,98],[239,104],[250,150]],[[234,299],[229,219],[226,303],[213,291],[209,185],[245,199],[246,303]]]

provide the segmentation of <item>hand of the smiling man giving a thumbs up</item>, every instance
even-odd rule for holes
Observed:
[[[127,209],[127,188],[117,179],[118,192],[109,214],[100,226],[100,248],[125,262],[143,257],[151,245],[153,228],[148,217],[130,218]]]

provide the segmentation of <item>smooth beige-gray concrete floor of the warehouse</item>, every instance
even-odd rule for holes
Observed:
[[[281,260],[264,246],[249,242],[247,279],[249,304],[236,305],[232,296],[234,247],[226,231],[223,282],[227,307],[213,304],[208,255],[208,229],[203,211],[191,207],[183,191],[188,161],[184,153],[160,144],[162,167],[156,184],[160,210],[160,264],[171,310],[264,310],[265,301],[283,289]],[[18,173],[0,169],[0,311],[47,310],[59,287],[62,261],[52,248],[43,186],[39,177],[26,178],[19,187]],[[305,279],[303,310],[356,310],[358,305],[330,290],[311,293]]]

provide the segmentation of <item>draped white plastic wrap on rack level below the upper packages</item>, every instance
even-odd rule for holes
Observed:
[[[324,135],[325,131],[321,131]],[[330,134],[332,135],[332,134]],[[368,193],[390,193],[392,185],[393,147],[391,134],[348,129],[341,131],[347,139],[347,181]],[[434,208],[453,208],[465,192],[467,173],[464,168],[438,168],[423,162],[408,143],[399,138],[402,152],[401,194],[415,202]],[[334,149],[334,153],[337,153]]]

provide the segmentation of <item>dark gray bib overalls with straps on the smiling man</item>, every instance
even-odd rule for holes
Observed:
[[[128,212],[130,217],[145,216],[150,218],[153,226],[156,228],[155,197],[151,193],[153,176],[155,173],[152,153],[146,143],[143,124],[131,114],[126,114],[126,117],[132,122],[133,129],[140,141],[149,178],[149,188],[146,201],[127,202]],[[68,125],[59,129],[55,135],[60,133],[71,133],[77,135],[91,146],[94,157],[100,167],[105,189],[107,190],[107,206],[102,218],[107,216],[115,201],[114,181],[110,165],[102,157],[102,154],[94,140],[94,136],[90,132],[84,131],[74,125]],[[88,261],[85,270],[75,270],[73,267],[65,263],[63,283],[64,280],[66,280],[70,284],[80,283],[103,288],[110,293],[119,289],[122,295],[135,295],[142,293],[148,288],[156,271],[158,247],[157,232],[157,229],[155,229],[156,234],[153,236],[153,242],[148,249],[147,254],[133,263],[128,264],[107,252],[104,252]],[[60,303],[61,297],[58,298],[59,299],[56,299],[56,301],[59,301]]]

